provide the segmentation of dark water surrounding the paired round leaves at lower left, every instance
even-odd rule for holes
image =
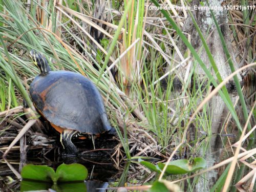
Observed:
[[[39,161],[38,161],[39,160]],[[7,163],[8,162],[8,163]],[[97,158],[73,158],[73,159],[62,159],[61,157],[57,162],[44,160],[44,163],[40,161],[40,158],[33,160],[27,159],[26,164],[37,164],[37,165],[48,165],[56,169],[62,163],[80,163],[88,169],[88,179],[84,182],[72,182],[72,183],[58,183],[53,185],[48,182],[35,182],[25,181],[19,182],[15,170],[19,169],[20,162],[18,158],[12,160],[1,160],[0,161],[0,191],[9,191],[15,189],[17,191],[28,191],[28,190],[47,190],[51,191],[105,191],[109,187],[109,182],[116,180],[116,174],[118,170],[113,166],[110,158],[102,157]],[[9,166],[8,166],[9,164]],[[10,168],[10,165],[12,168]],[[17,172],[17,171],[16,171]],[[18,172],[17,172],[18,174]],[[13,181],[13,182],[10,182]]]

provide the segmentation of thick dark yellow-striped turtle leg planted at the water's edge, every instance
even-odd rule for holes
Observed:
[[[67,156],[77,156],[77,148],[72,143],[72,137],[77,133],[75,130],[63,130],[60,134],[60,142],[65,150],[65,154]]]

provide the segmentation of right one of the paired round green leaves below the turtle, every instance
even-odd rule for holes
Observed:
[[[87,176],[88,170],[85,166],[81,164],[61,164],[56,170],[55,181],[83,181],[87,178]]]

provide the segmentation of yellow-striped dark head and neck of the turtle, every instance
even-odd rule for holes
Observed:
[[[29,53],[34,65],[39,68],[41,74],[46,74],[50,71],[50,67],[45,56],[33,49]]]

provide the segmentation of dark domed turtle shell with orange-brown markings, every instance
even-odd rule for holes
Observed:
[[[111,130],[99,91],[78,73],[40,74],[29,92],[38,112],[55,126],[91,135]]]

